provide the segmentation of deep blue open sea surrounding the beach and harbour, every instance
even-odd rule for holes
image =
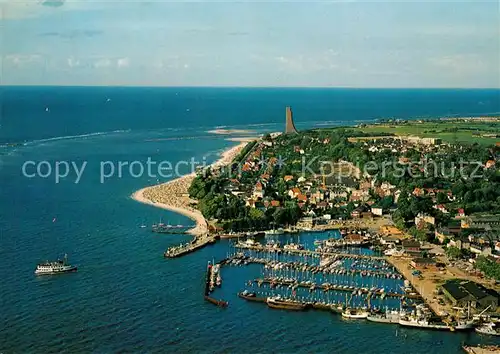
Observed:
[[[218,308],[203,300],[204,272],[231,241],[163,258],[189,236],[152,233],[151,224],[193,222],[130,195],[190,172],[186,161],[217,160],[236,144],[228,137],[247,135],[211,130],[282,131],[288,105],[301,130],[495,115],[500,91],[0,87],[0,353],[431,354],[500,344],[248,303],[237,292],[256,266],[222,270],[214,297],[229,306]],[[146,172],[148,161],[172,168]],[[64,254],[78,272],[34,275]]]

